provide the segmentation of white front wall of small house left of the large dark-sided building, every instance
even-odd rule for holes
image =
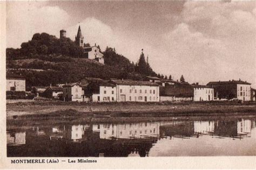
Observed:
[[[212,88],[194,87],[194,101],[209,101],[213,100],[213,98],[214,90]]]

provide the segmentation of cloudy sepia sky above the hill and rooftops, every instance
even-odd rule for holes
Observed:
[[[137,62],[141,50],[154,71],[189,83],[238,80],[256,87],[255,2],[8,2],[6,46],[34,33],[115,47]]]

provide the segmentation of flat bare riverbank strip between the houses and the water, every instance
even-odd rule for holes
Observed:
[[[58,101],[35,101],[33,103],[15,103],[6,105],[7,118],[13,115],[40,115],[69,112],[86,115],[95,113],[114,116],[168,116],[176,114],[201,115],[210,113],[250,113],[256,114],[256,103],[238,104],[227,101],[214,102],[174,102],[174,103],[63,103]]]

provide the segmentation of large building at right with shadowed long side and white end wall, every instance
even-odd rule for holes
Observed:
[[[207,84],[214,88],[216,99],[238,99],[243,101],[251,100],[251,83],[239,80],[211,81]]]

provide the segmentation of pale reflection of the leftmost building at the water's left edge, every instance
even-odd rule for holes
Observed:
[[[24,145],[26,144],[25,132],[8,132],[7,145]]]

